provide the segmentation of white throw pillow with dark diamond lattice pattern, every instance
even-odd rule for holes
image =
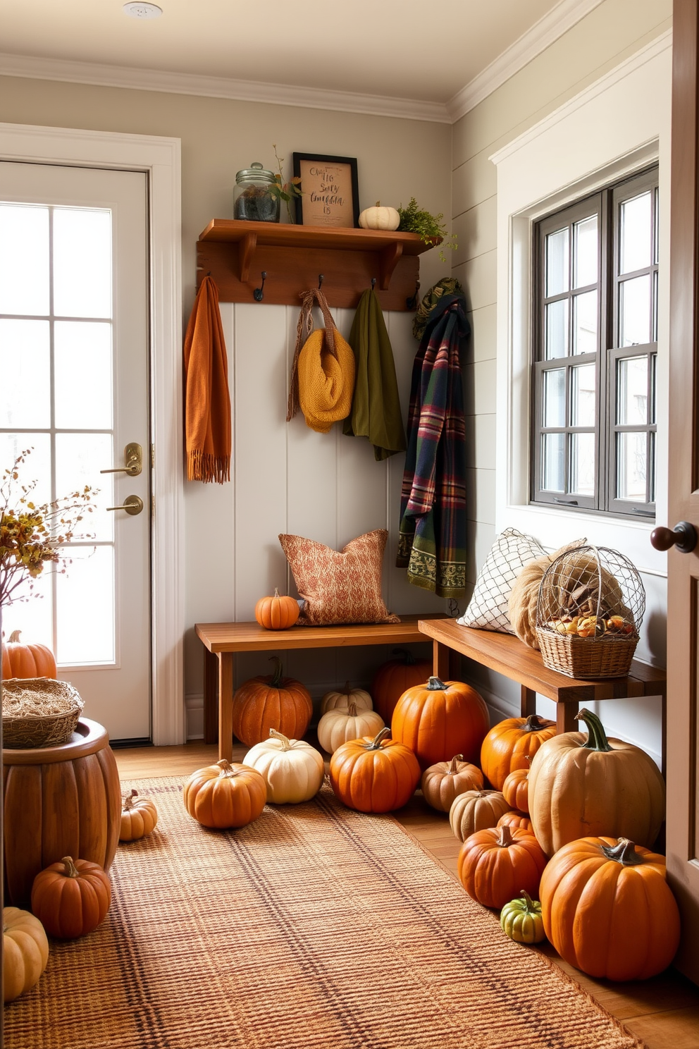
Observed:
[[[481,571],[474,596],[457,623],[481,630],[514,634],[507,614],[507,602],[521,569],[546,551],[531,535],[506,528],[496,537]]]

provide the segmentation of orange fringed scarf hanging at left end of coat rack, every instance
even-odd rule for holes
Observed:
[[[184,336],[184,435],[190,480],[231,479],[228,363],[211,277],[201,281]]]

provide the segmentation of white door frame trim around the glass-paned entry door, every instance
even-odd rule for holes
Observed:
[[[185,741],[180,140],[0,123],[0,159],[146,173],[149,195],[151,685],[156,746]]]

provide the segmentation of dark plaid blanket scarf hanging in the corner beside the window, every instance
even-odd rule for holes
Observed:
[[[430,315],[411,382],[400,495],[398,568],[415,586],[460,598],[466,586],[465,423],[459,350],[464,299],[444,295]]]

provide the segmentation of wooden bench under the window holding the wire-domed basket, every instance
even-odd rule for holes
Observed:
[[[662,768],[665,766],[665,670],[633,660],[627,678],[578,681],[544,666],[541,654],[529,648],[511,634],[495,634],[459,626],[453,619],[420,620],[421,633],[433,641],[434,672],[449,675],[450,652],[457,651],[467,659],[497,670],[522,689],[522,716],[536,713],[537,692],[556,704],[556,732],[578,728],[574,716],[581,704],[595,700],[618,700],[633,695],[659,695],[662,718]]]

